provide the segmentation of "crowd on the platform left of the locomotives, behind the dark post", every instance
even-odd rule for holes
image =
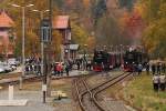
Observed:
[[[52,75],[63,75],[70,74],[70,71],[72,69],[76,70],[91,70],[91,61],[82,59],[76,59],[76,60],[68,60],[65,62],[52,62],[50,64],[50,70]],[[37,74],[41,75],[42,74],[42,64],[41,64],[41,59],[40,58],[27,58],[25,59],[25,65],[24,70],[27,74]]]

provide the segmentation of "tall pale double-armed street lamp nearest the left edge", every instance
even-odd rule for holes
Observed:
[[[33,7],[34,4],[18,6],[18,4],[13,3],[11,6],[22,9],[22,77],[20,78],[20,89],[22,89],[22,80],[24,77],[24,62],[25,62],[25,56],[24,56],[25,16],[24,16],[24,13],[25,13],[25,8]]]

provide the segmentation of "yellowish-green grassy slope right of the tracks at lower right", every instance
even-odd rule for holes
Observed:
[[[166,91],[154,92],[152,75],[136,77],[121,90],[121,94],[129,104],[142,111],[166,111]]]

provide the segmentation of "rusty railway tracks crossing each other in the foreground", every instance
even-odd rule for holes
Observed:
[[[74,81],[74,85],[76,89],[79,105],[82,111],[110,111],[104,109],[103,105],[97,101],[97,94],[104,91],[105,89],[118,83],[125,78],[129,77],[132,73],[122,73],[110,80],[94,87],[90,88],[85,81],[85,78],[79,78]],[[83,88],[84,87],[84,90]]]

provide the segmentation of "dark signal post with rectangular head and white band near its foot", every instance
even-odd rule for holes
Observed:
[[[42,47],[42,57],[43,57],[43,84],[42,84],[42,91],[43,91],[43,103],[45,103],[46,93],[49,91],[48,85],[48,75],[50,78],[50,63],[49,63],[49,44],[51,43],[51,22],[49,19],[43,19],[41,21],[41,42],[43,44]]]

